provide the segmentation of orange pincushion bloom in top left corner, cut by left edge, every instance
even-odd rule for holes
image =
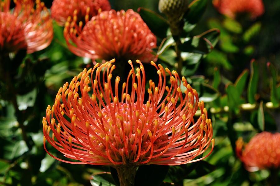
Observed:
[[[18,0],[15,4],[10,11],[10,0],[0,3],[0,50],[27,49],[27,53],[33,53],[49,46],[53,28],[44,2]]]

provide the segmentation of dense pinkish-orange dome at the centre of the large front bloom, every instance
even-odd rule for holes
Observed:
[[[141,110],[136,110],[136,108],[141,108]],[[118,105],[111,103],[111,105],[101,109],[100,113],[99,118],[102,118],[102,121],[96,119],[99,127],[94,127],[93,131],[104,139],[105,135],[109,134],[110,156],[116,162],[132,161],[138,153],[139,158],[143,159],[147,154],[150,154],[147,152],[151,151],[152,145],[153,154],[161,153],[160,148],[167,144],[168,135],[161,134],[156,138],[156,134],[161,131],[162,124],[157,120],[148,121],[148,115],[152,114],[152,108],[146,104],[137,107],[137,103],[118,103]],[[155,137],[151,139],[150,135]],[[93,135],[91,138],[96,147],[103,151],[106,150],[106,144],[100,143]]]

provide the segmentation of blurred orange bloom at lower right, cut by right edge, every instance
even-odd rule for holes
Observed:
[[[280,133],[261,132],[245,146],[242,138],[236,141],[236,154],[248,171],[280,167]]]

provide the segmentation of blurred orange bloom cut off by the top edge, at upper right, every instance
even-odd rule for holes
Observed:
[[[262,0],[213,0],[213,5],[221,14],[231,18],[238,13],[249,13],[252,19],[264,14]]]

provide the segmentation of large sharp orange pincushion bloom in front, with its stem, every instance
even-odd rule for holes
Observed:
[[[43,118],[44,148],[50,156],[73,164],[113,166],[121,185],[126,185],[125,180],[134,181],[139,165],[180,165],[202,160],[212,152],[211,119],[204,103],[198,102],[197,91],[184,77],[181,85],[176,71],[171,73],[151,62],[159,77],[158,85],[149,81],[148,101],[144,102],[146,78],[141,62],[137,61],[140,67],[135,74],[129,61],[131,71],[120,86],[121,95],[119,77],[111,87],[113,62],[84,69],[59,89],[54,105],[47,107]],[[201,113],[195,121],[198,108]],[[65,157],[79,162],[55,157],[48,152],[46,140]],[[209,153],[195,159],[211,141]]]

